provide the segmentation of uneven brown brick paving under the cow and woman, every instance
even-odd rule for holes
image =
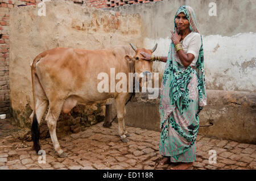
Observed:
[[[129,142],[118,137],[118,125],[104,128],[102,123],[85,131],[59,138],[68,154],[59,158],[50,138],[40,140],[46,151],[46,163],[38,163],[39,155],[31,150],[32,142],[19,141],[13,136],[0,140],[0,169],[170,169],[160,166],[160,133],[127,127]],[[15,132],[14,132],[15,134]],[[216,140],[197,136],[196,162],[189,169],[256,169],[256,145]],[[209,150],[216,150],[217,163],[209,163]]]

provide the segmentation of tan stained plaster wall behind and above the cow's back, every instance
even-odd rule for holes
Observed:
[[[30,125],[32,107],[30,64],[37,54],[55,47],[101,49],[113,45],[142,46],[141,18],[114,11],[89,9],[72,2],[46,2],[39,7],[15,7],[10,14],[10,99],[19,125]]]

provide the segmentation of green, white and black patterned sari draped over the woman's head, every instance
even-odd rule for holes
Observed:
[[[192,32],[198,32],[196,16],[190,6],[181,6],[175,18],[184,12]],[[175,23],[174,18],[174,24]],[[207,104],[204,78],[203,40],[196,62],[196,70],[177,62],[171,42],[160,91],[159,153],[171,162],[193,162],[196,159],[195,141],[199,129],[199,112]]]

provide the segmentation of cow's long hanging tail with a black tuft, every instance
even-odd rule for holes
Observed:
[[[34,143],[33,148],[36,150],[36,153],[41,149],[41,146],[39,144],[39,138],[40,138],[40,128],[38,124],[38,119],[36,118],[36,94],[35,94],[35,65],[36,62],[42,57],[42,54],[39,54],[35,57],[34,61],[31,65],[31,77],[32,77],[32,92],[33,92],[33,99],[34,99],[34,116],[32,120],[32,126],[31,126],[31,138]]]

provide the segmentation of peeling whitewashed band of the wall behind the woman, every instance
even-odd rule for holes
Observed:
[[[256,33],[234,36],[203,36],[207,89],[256,91]],[[144,47],[158,43],[155,55],[167,56],[171,39],[144,39]],[[154,71],[163,73],[164,63],[154,63]]]

